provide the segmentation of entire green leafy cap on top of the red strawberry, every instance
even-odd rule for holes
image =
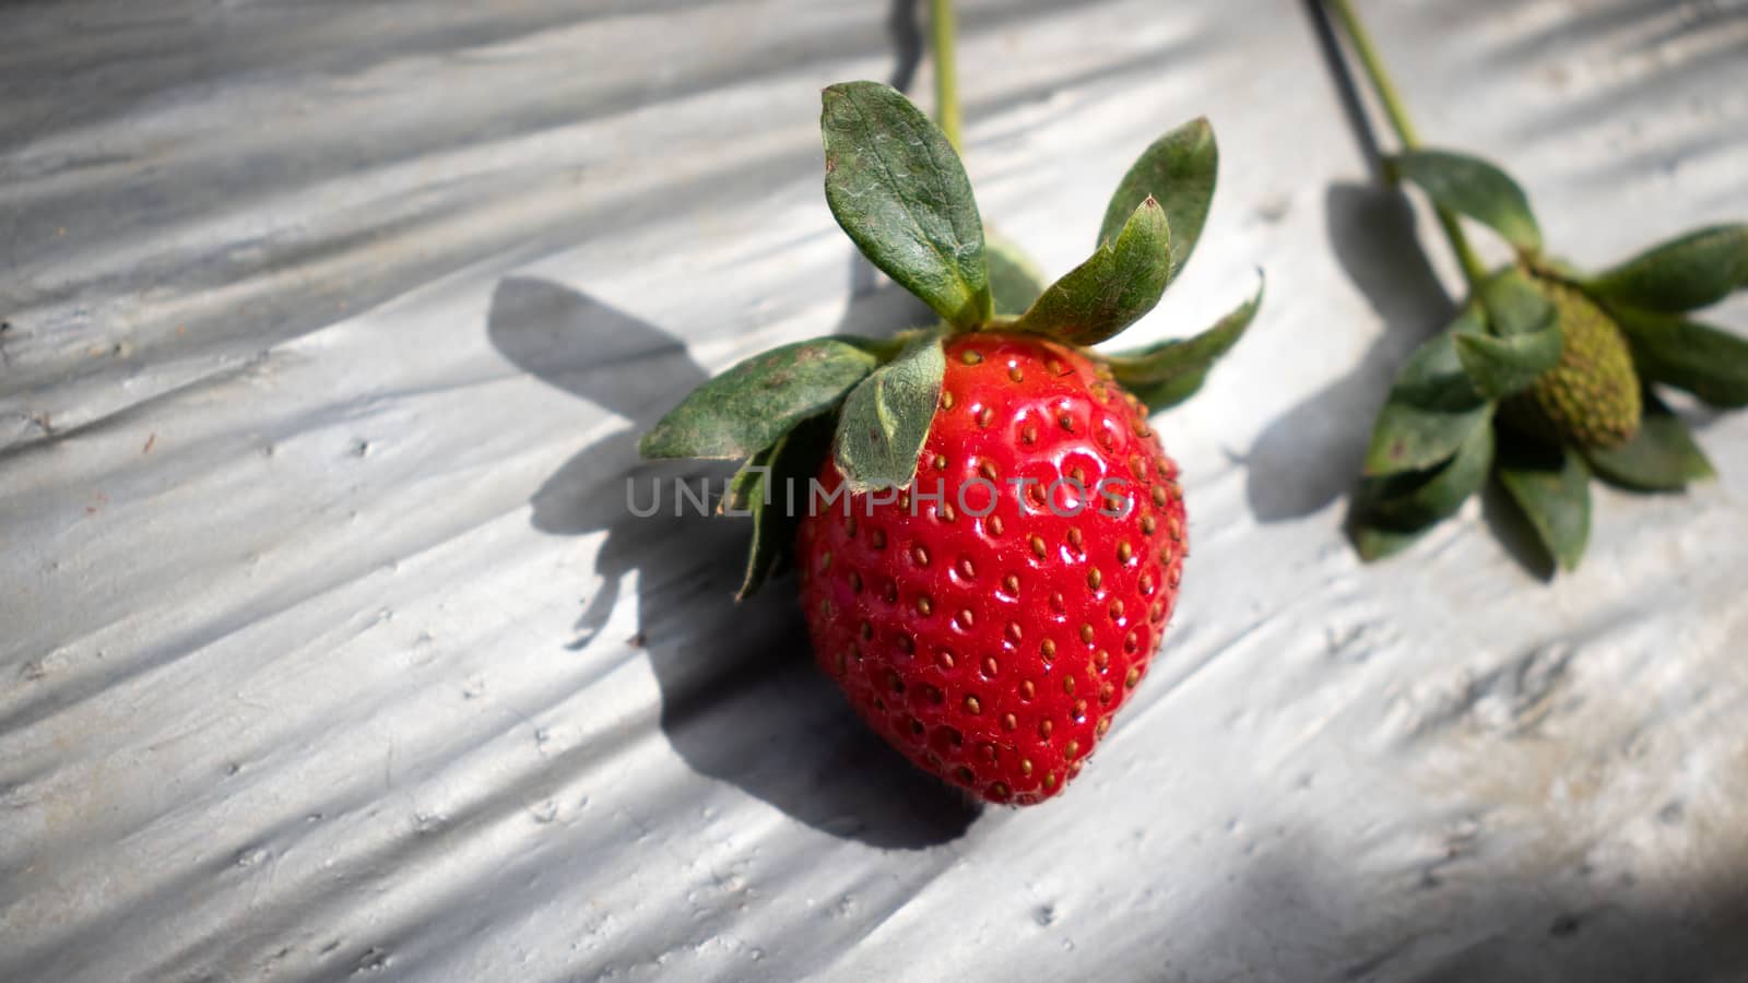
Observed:
[[[965,332],[1042,336],[1082,350],[1147,315],[1189,261],[1213,198],[1218,149],[1206,119],[1155,140],[1119,182],[1098,245],[1052,283],[1010,241],[986,234],[946,135],[879,82],[823,91],[825,199],[857,248],[939,317],[893,338],[825,336],[746,359],[687,395],[643,436],[649,458],[746,464],[724,511],[750,509],[741,596],[785,563],[792,516],[771,488],[827,455],[853,493],[909,488],[946,373],[942,345]],[[1211,329],[1101,355],[1148,411],[1197,392],[1245,334],[1260,285]]]

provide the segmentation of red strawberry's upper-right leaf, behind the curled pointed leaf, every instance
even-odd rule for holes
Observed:
[[[1105,222],[1098,241],[1108,243],[1134,213],[1141,201],[1152,198],[1166,210],[1171,226],[1171,271],[1168,282],[1189,262],[1201,238],[1208,208],[1213,203],[1213,185],[1220,170],[1220,149],[1213,140],[1213,126],[1197,117],[1166,133],[1141,152],[1122,175],[1117,192],[1105,206]]]

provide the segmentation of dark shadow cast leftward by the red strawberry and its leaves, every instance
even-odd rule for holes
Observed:
[[[893,294],[904,292],[864,289],[846,325],[902,322],[905,304]],[[533,278],[498,285],[488,331],[517,367],[633,423],[577,451],[531,498],[540,532],[601,537],[598,584],[565,647],[621,644],[601,631],[621,603],[635,603],[629,644],[649,658],[661,689],[659,726],[694,771],[874,847],[923,848],[961,836],[977,806],[862,726],[813,666],[792,595],[773,589],[745,603],[732,600],[748,523],[701,518],[690,507],[676,518],[671,497],[654,516],[629,511],[628,478],[642,507],[656,481],[669,488],[683,479],[696,488],[708,479],[720,490],[729,474],[715,464],[638,462],[635,434],[706,378],[683,343],[594,297]],[[635,598],[626,596],[628,582]]]

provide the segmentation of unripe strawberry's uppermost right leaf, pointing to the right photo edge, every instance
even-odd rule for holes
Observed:
[[[1605,301],[1690,311],[1748,287],[1748,224],[1713,226],[1655,245],[1585,287]]]

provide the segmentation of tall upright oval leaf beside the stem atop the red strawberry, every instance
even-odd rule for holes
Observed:
[[[982,222],[946,135],[879,82],[823,93],[825,201],[874,266],[958,327],[989,318]]]

